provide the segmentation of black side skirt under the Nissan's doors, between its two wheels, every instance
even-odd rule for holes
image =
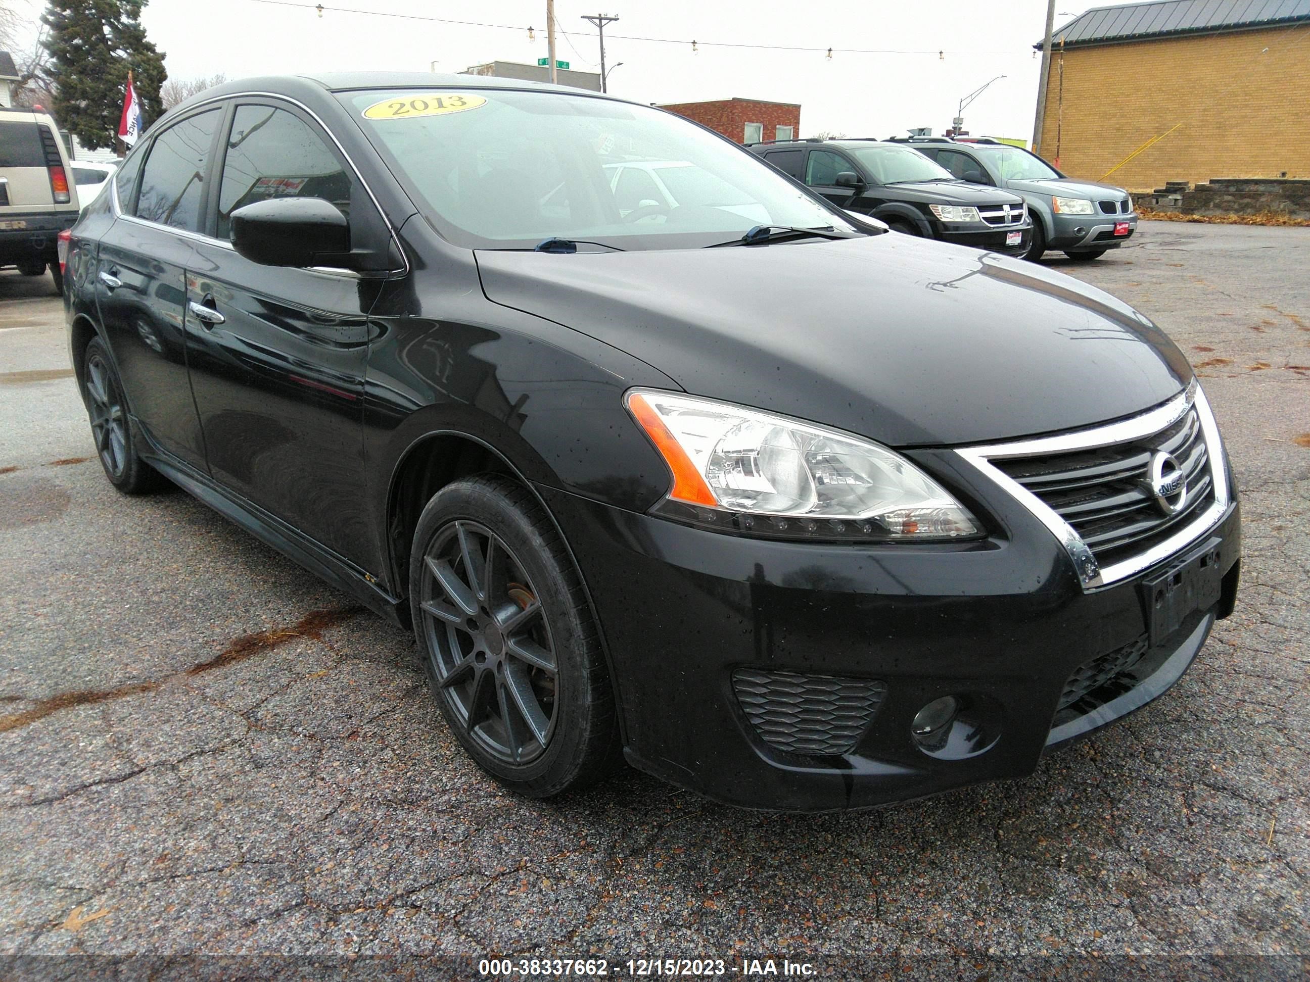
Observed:
[[[136,432],[145,437],[147,446],[143,448],[145,452],[141,457],[160,474],[228,521],[245,529],[261,542],[272,546],[337,589],[355,597],[360,604],[392,623],[398,627],[410,625],[409,605],[384,591],[380,584],[371,581],[364,570],[178,460],[156,444],[138,420],[132,422],[136,423]]]

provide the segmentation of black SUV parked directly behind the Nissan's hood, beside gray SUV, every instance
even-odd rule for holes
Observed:
[[[833,204],[893,232],[1018,257],[1032,245],[1022,198],[965,183],[912,147],[811,139],[757,143],[751,151]]]

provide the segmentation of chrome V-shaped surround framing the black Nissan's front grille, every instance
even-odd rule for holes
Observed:
[[[1087,543],[1082,541],[1082,537],[1069,522],[1061,518],[1045,501],[1023,487],[1023,484],[992,464],[993,460],[1009,457],[1034,457],[1048,453],[1087,450],[1096,446],[1140,440],[1144,436],[1158,433],[1161,429],[1172,426],[1192,406],[1196,407],[1196,414],[1201,423],[1201,433],[1205,437],[1210,482],[1214,487],[1214,501],[1199,517],[1189,521],[1163,542],[1158,542],[1150,549],[1111,566],[1100,566],[1087,547]],[[1038,521],[1047,526],[1073,560],[1083,591],[1108,587],[1169,558],[1214,528],[1224,517],[1224,512],[1227,511],[1229,505],[1227,471],[1224,465],[1224,446],[1220,440],[1218,424],[1214,422],[1214,412],[1210,410],[1205,393],[1201,391],[1195,378],[1184,391],[1175,395],[1163,406],[1158,406],[1132,419],[1108,423],[1093,429],[1079,429],[1073,433],[1038,437],[1035,440],[1015,440],[1003,444],[988,444],[985,446],[963,446],[958,448],[955,453],[968,461],[984,477],[1000,484],[1011,498],[1027,508]]]

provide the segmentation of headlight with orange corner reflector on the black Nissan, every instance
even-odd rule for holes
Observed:
[[[651,509],[665,517],[781,538],[981,533],[924,471],[858,436],[655,389],[633,389],[624,405],[672,471],[672,490]]]

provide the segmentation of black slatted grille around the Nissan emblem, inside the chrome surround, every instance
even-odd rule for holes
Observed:
[[[1170,515],[1148,486],[1151,457],[1171,454],[1186,477],[1183,507]],[[1151,436],[1110,446],[994,461],[1078,533],[1102,566],[1148,549],[1214,503],[1209,452],[1196,407]]]

